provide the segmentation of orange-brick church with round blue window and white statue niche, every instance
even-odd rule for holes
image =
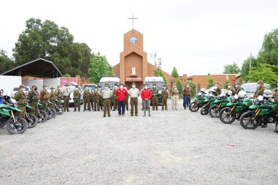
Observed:
[[[135,67],[135,73],[132,68]],[[118,76],[121,83],[132,88],[132,82],[136,83],[137,88],[143,85],[146,76],[152,76],[157,67],[147,62],[147,53],[143,50],[143,34],[130,30],[123,35],[123,52],[120,53],[120,63],[113,66],[114,74]],[[164,71],[163,71],[164,72]],[[174,77],[164,72],[164,75],[171,85]]]

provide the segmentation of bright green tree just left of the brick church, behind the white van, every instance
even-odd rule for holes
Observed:
[[[113,75],[114,71],[112,66],[108,63],[105,56],[101,56],[100,52],[91,58],[91,67],[88,69],[90,81],[98,83],[104,75]]]

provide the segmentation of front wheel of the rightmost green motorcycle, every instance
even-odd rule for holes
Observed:
[[[248,111],[240,116],[239,122],[244,129],[256,129],[260,124],[261,120],[257,116],[256,120],[252,120],[253,111]]]

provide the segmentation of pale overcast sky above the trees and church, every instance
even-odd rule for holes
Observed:
[[[148,62],[156,52],[162,70],[179,75],[222,73],[223,65],[240,67],[250,52],[257,56],[264,35],[278,28],[278,1],[3,1],[0,49],[12,48],[29,18],[49,19],[66,27],[75,42],[85,42],[114,66],[123,51],[123,34],[144,34]]]

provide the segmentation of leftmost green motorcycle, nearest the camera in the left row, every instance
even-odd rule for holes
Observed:
[[[4,96],[3,99],[8,102],[10,97]],[[22,112],[18,107],[16,102],[6,103],[6,105],[0,104],[0,127],[7,125],[10,134],[22,134],[28,127],[24,118],[16,116],[16,112]]]

